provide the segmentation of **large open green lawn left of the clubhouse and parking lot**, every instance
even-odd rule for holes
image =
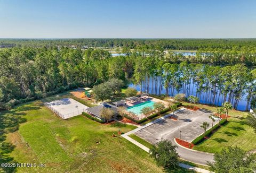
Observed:
[[[1,112],[0,118],[0,162],[46,164],[17,172],[163,172],[138,146],[112,137],[135,126],[100,124],[84,116],[62,120],[41,101]]]

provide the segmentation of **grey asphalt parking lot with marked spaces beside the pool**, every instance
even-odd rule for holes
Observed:
[[[204,133],[204,129],[200,127],[203,122],[210,124],[207,129],[212,126],[212,120],[209,118],[211,114],[208,110],[191,111],[185,109],[174,115],[177,120],[166,118],[134,134],[152,144],[161,141],[162,138],[174,143],[174,138],[180,136],[182,140],[191,142]],[[218,121],[214,122],[214,124],[217,123]]]

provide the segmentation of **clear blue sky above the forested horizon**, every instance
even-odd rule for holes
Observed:
[[[256,38],[256,1],[0,0],[0,38]]]

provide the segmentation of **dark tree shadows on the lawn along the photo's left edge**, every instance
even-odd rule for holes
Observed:
[[[6,134],[18,131],[21,123],[25,123],[27,120],[22,115],[26,113],[20,113],[19,111],[35,110],[39,109],[39,106],[21,106],[13,110],[2,111],[0,114],[0,163],[15,162],[15,160],[9,156],[14,150],[15,145],[6,142]],[[4,172],[15,172],[15,168],[2,168]],[[1,170],[0,170],[1,171]]]

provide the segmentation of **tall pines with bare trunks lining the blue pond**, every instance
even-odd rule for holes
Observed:
[[[221,105],[228,101],[235,109],[247,93],[246,110],[255,100],[255,69],[242,64],[224,67],[187,61],[177,64],[158,55],[140,56],[135,60],[134,82],[140,85],[141,92],[161,95],[165,88],[166,96],[174,96],[174,91],[186,97],[195,94],[199,100],[204,100],[202,103]]]

